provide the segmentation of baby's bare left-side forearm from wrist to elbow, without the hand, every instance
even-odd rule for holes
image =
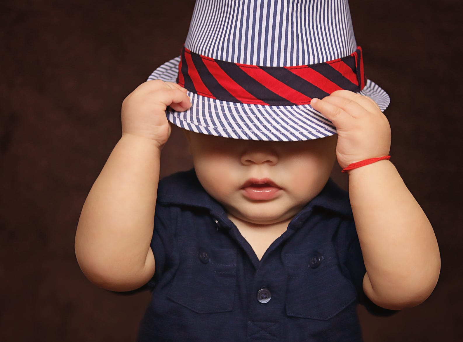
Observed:
[[[75,254],[87,278],[101,287],[136,288],[131,280],[139,281],[145,262],[154,260],[149,254],[159,159],[160,150],[149,139],[124,134],[88,193]]]

